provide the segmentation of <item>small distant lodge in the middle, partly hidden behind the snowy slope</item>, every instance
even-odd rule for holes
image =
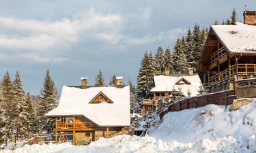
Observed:
[[[184,97],[198,94],[199,88],[202,86],[199,75],[193,73],[193,69],[188,69],[188,73],[171,74],[167,70],[165,75],[154,76],[154,87],[147,95],[147,99],[143,99],[143,109],[141,114],[162,109],[172,97],[173,90],[181,90]],[[165,101],[162,101],[165,99]]]

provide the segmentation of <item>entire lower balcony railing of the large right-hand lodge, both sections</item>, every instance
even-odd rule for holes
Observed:
[[[216,73],[215,75],[209,78],[209,86],[212,86],[218,82],[226,80],[233,75],[256,75],[256,64],[238,64],[237,73],[236,73],[236,65],[232,65],[229,69],[225,69],[220,73]]]

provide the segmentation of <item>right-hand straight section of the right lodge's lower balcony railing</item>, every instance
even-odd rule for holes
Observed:
[[[238,64],[238,75],[256,75],[256,64]]]

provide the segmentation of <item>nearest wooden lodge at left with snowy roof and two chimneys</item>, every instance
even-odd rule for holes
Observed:
[[[55,118],[56,141],[67,141],[68,132],[75,145],[128,134],[130,88],[121,77],[116,86],[87,86],[81,78],[81,86],[63,86],[58,107],[45,116]]]

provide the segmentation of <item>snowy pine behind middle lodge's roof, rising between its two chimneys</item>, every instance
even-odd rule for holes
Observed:
[[[174,61],[173,66],[176,73],[186,73],[188,65],[186,63],[186,55],[184,54],[184,48],[182,46],[182,41],[178,38],[174,46]]]

